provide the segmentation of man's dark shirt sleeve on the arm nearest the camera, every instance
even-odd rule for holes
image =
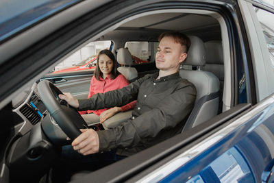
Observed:
[[[99,150],[117,147],[134,147],[142,138],[155,138],[163,130],[175,127],[191,112],[196,99],[194,86],[188,85],[176,90],[136,119],[129,119],[122,125],[109,130],[98,131]]]

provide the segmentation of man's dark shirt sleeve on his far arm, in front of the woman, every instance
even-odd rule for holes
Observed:
[[[145,77],[132,82],[119,90],[112,90],[106,93],[97,93],[89,99],[78,99],[79,110],[97,110],[124,106],[137,99],[140,84],[146,80]]]

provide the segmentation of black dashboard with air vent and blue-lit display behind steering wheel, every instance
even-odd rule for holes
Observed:
[[[10,125],[4,127],[10,131],[9,134],[1,134],[5,143],[1,145],[4,158],[0,171],[10,174],[10,182],[27,182],[31,177],[38,180],[60,154],[60,148],[53,145],[40,125],[42,121],[47,121],[46,126],[53,126],[47,108],[38,95],[37,86],[34,83],[19,93],[8,105],[6,115],[1,114],[9,121]],[[47,169],[40,164],[45,164]]]

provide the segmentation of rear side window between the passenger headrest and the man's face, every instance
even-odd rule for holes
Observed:
[[[127,41],[125,42],[125,48],[129,49],[132,53],[132,59],[134,64],[145,64],[149,62],[155,62],[155,53],[159,42],[147,42],[147,41]]]

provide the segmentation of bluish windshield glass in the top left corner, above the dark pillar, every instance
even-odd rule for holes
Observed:
[[[0,1],[0,41],[79,0]]]

